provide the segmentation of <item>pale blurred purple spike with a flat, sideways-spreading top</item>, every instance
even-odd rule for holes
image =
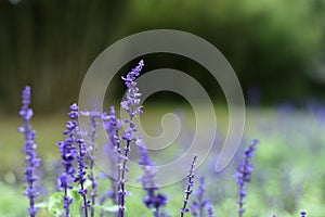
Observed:
[[[95,161],[95,151],[98,148],[98,144],[95,142],[98,138],[98,126],[99,126],[99,120],[102,118],[102,113],[100,111],[92,110],[92,111],[84,111],[80,112],[81,115],[83,116],[89,116],[90,117],[90,130],[88,131],[87,136],[90,138],[88,141],[88,158],[90,159],[90,174],[88,176],[89,180],[91,181],[91,213],[90,216],[94,216],[94,206],[95,206],[95,199],[98,196],[98,177],[94,176],[93,167],[94,167],[94,161]]]

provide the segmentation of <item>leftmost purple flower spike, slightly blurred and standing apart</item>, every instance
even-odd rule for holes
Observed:
[[[20,111],[20,115],[23,117],[24,126],[18,128],[20,132],[24,133],[25,137],[25,148],[23,151],[26,154],[25,162],[25,177],[24,181],[27,182],[26,191],[24,194],[29,199],[29,208],[28,213],[30,217],[35,217],[37,214],[37,208],[35,207],[35,199],[39,195],[35,188],[35,181],[38,180],[36,175],[36,169],[40,165],[40,158],[37,158],[35,143],[36,131],[31,130],[31,126],[29,124],[30,118],[32,117],[32,110],[29,108],[30,104],[30,94],[31,90],[29,86],[26,86],[23,90],[23,105]]]

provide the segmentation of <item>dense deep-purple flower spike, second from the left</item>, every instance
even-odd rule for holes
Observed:
[[[58,151],[61,152],[62,164],[64,171],[60,177],[60,188],[64,191],[63,207],[65,209],[65,216],[70,216],[69,205],[73,203],[73,199],[68,196],[68,189],[73,189],[73,181],[76,179],[76,170],[74,168],[74,162],[77,157],[76,135],[79,131],[77,119],[79,117],[78,105],[70,105],[70,112],[68,113],[70,120],[66,124],[66,130],[63,135],[68,136],[64,141],[58,142]]]

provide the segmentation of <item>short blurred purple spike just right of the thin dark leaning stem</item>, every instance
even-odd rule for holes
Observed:
[[[191,213],[194,217],[203,217],[205,209],[207,208],[208,213],[213,213],[213,207],[209,200],[204,199],[205,194],[205,177],[199,177],[199,187],[195,192],[196,200],[191,205]]]

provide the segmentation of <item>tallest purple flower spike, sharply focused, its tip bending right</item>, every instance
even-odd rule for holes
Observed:
[[[119,212],[118,216],[123,217],[125,216],[125,195],[126,195],[126,171],[127,168],[127,162],[128,162],[128,155],[131,151],[130,145],[131,143],[135,142],[136,138],[134,137],[134,132],[136,131],[135,124],[132,122],[133,117],[136,116],[136,114],[142,114],[140,104],[140,97],[141,93],[139,92],[139,88],[136,87],[135,78],[140,75],[140,72],[142,71],[142,67],[144,66],[143,61],[140,61],[138,66],[133,68],[131,72],[128,73],[127,77],[122,77],[125,80],[126,86],[128,87],[127,92],[127,99],[122,101],[121,107],[127,111],[129,115],[129,119],[126,119],[125,122],[129,124],[129,127],[125,130],[125,133],[122,136],[122,140],[127,142],[125,146],[125,153],[122,156],[122,165],[119,168],[120,177],[119,177]]]

